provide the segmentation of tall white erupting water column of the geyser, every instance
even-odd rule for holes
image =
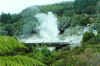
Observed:
[[[58,40],[59,30],[57,27],[57,18],[52,12],[48,14],[37,14],[36,18],[40,22],[40,37],[42,41],[54,42]]]

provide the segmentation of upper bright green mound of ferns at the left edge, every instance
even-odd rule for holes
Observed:
[[[13,37],[0,36],[0,55],[16,53],[16,51],[25,49],[25,45]]]

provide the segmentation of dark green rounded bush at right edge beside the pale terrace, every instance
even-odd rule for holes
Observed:
[[[82,47],[99,47],[100,44],[100,34],[94,35],[91,32],[86,32],[83,36]]]

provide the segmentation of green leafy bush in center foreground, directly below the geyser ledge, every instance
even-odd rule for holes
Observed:
[[[56,60],[57,55],[57,52],[50,51],[47,47],[42,46],[33,48],[33,55],[31,55],[31,57],[45,63],[46,65],[50,65]]]

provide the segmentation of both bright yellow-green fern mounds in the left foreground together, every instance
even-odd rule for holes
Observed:
[[[0,66],[45,66],[38,60],[23,56],[27,47],[15,38],[0,36]]]

